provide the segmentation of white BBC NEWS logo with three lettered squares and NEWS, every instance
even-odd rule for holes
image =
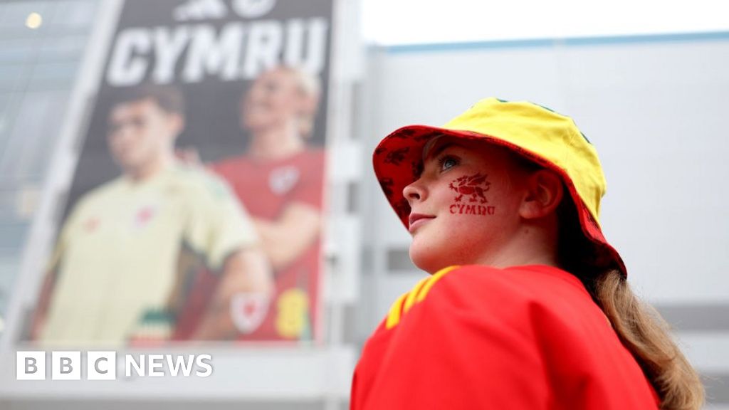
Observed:
[[[81,380],[81,352],[17,352],[17,380]],[[117,352],[86,352],[87,380],[116,380]],[[121,368],[119,369],[121,371]],[[195,376],[213,374],[211,355],[124,355],[124,377]]]

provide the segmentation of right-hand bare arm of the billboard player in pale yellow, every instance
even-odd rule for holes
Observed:
[[[225,260],[215,295],[192,339],[232,339],[238,333],[230,314],[234,295],[257,294],[268,298],[272,292],[270,266],[260,247],[252,246],[236,251]]]

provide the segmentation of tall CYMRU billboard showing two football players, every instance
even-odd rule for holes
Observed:
[[[28,339],[321,336],[332,0],[126,0]]]

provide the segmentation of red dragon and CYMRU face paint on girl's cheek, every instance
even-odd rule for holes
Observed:
[[[486,193],[491,188],[488,174],[477,172],[453,179],[448,184],[453,193],[453,203],[449,207],[451,214],[456,215],[493,215],[496,206],[488,205]]]

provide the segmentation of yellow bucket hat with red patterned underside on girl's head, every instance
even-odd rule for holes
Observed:
[[[386,136],[373,154],[383,193],[408,228],[410,204],[402,190],[420,177],[426,144],[451,136],[506,147],[560,175],[577,209],[582,234],[593,244],[593,260],[627,275],[625,263],[605,239],[600,201],[606,191],[602,166],[593,144],[570,117],[528,101],[486,98],[442,127],[408,125]]]

